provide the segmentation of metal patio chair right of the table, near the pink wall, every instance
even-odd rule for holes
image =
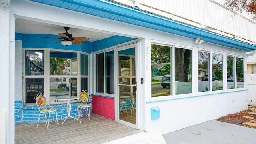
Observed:
[[[82,92],[80,93],[80,96],[82,96],[83,98],[78,99],[77,119],[79,119],[83,115],[86,115],[90,121],[91,120],[90,112],[91,112],[91,106],[92,106],[90,101],[90,94],[88,94],[87,90],[82,90]]]

